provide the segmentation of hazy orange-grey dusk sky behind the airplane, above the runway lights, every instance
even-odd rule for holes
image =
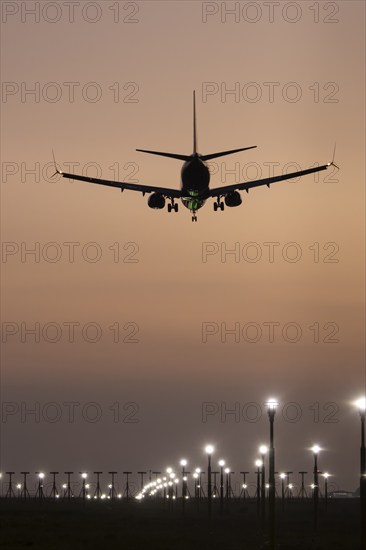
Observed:
[[[318,443],[355,489],[364,3],[1,8],[1,470],[193,467],[212,442],[253,472],[274,396],[276,468],[310,472]],[[135,149],[192,152],[193,89],[199,152],[258,146],[212,163],[212,187],[324,164],[335,141],[341,170],[194,224],[51,178],[53,148],[64,171],[178,188],[180,161]]]

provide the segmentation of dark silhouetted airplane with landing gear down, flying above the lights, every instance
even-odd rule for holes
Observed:
[[[284,181],[299,176],[306,176],[307,174],[313,174],[314,172],[320,172],[327,170],[330,166],[339,167],[334,163],[335,147],[333,153],[332,162],[328,162],[322,166],[315,168],[308,168],[307,170],[300,170],[298,172],[291,172],[289,174],[283,174],[281,176],[273,176],[270,178],[264,178],[255,181],[245,181],[242,183],[234,183],[232,185],[226,185],[224,187],[216,187],[210,189],[210,172],[206,161],[223,157],[224,155],[231,155],[232,153],[239,153],[240,151],[248,151],[249,149],[256,148],[256,145],[251,147],[242,147],[241,149],[232,149],[230,151],[221,151],[219,153],[212,153],[209,155],[201,155],[197,151],[197,124],[196,124],[196,94],[193,92],[193,153],[191,155],[181,155],[175,153],[165,153],[162,151],[150,151],[146,149],[136,149],[136,151],[142,153],[149,153],[150,155],[160,155],[162,157],[168,157],[184,161],[181,170],[181,188],[171,189],[168,187],[157,187],[153,185],[141,185],[139,183],[128,183],[123,181],[110,181],[99,178],[89,178],[87,176],[79,176],[77,174],[68,174],[62,172],[56,165],[55,156],[53,154],[55,164],[55,174],[60,174],[64,178],[86,181],[89,183],[95,183],[97,185],[106,185],[108,187],[117,187],[121,191],[128,189],[130,191],[139,191],[144,196],[149,193],[148,206],[153,209],[161,210],[165,207],[165,203],[168,200],[168,212],[178,212],[177,200],[181,200],[183,205],[191,212],[192,221],[197,221],[197,211],[203,207],[207,199],[214,198],[213,208],[216,211],[224,210],[226,205],[229,208],[239,206],[242,203],[241,195],[239,191],[246,191],[249,193],[249,189],[266,185],[268,188],[273,183],[278,181]],[[224,199],[224,202],[223,200]]]

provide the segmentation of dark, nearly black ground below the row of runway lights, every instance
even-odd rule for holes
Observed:
[[[39,550],[259,550],[268,549],[257,516],[256,502],[231,501],[221,517],[214,502],[211,522],[205,503],[86,502],[76,499],[24,502],[0,500],[0,548]],[[319,527],[313,529],[311,500],[292,499],[282,511],[277,502],[278,550],[358,550],[358,499],[335,499],[319,507]],[[266,531],[267,532],[267,531]]]

